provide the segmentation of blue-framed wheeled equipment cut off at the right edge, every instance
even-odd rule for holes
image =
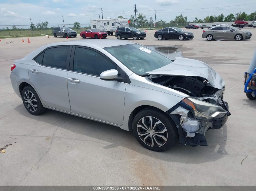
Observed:
[[[248,72],[244,72],[244,92],[250,100],[256,99],[256,50],[251,59]]]

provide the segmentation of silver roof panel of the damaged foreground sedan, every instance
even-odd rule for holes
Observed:
[[[99,46],[101,48],[111,47],[111,46],[120,46],[126,44],[135,44],[128,40],[117,40],[117,39],[86,39],[86,40],[70,40],[59,43],[48,44],[48,47],[51,46],[61,46],[61,45],[77,45],[77,46]]]

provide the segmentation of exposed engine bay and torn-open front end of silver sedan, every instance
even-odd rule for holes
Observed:
[[[209,129],[220,129],[230,115],[228,103],[223,100],[224,87],[222,89],[214,88],[203,77],[150,75],[149,79],[157,84],[183,92],[196,100],[221,107],[218,108],[222,110],[222,114],[212,118],[205,118],[204,114],[196,112],[182,101],[171,108],[167,113],[171,115],[177,125],[180,144],[207,146],[205,132]],[[213,106],[211,104],[206,110],[211,110]]]

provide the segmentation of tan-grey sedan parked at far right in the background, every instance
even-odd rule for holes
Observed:
[[[203,31],[202,37],[206,38],[207,40],[215,40],[215,39],[243,40],[243,39],[250,39],[251,32],[237,29],[231,26],[216,26],[216,27],[212,27],[211,29]]]

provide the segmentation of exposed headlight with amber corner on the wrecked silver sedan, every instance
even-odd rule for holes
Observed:
[[[226,115],[226,111],[218,106],[205,101],[201,101],[192,97],[186,97],[182,100],[184,103],[192,107],[191,112],[194,118],[212,121]]]

